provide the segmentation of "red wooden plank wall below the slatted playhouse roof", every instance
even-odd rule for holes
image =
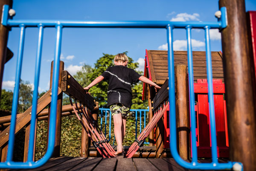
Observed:
[[[225,91],[222,80],[213,80],[214,87],[214,106],[215,106],[215,123],[218,157],[228,157],[228,138],[227,138],[227,116],[226,103],[223,99]],[[201,87],[204,88],[201,88]],[[218,90],[217,87],[218,87]],[[210,123],[209,123],[209,105],[207,80],[198,79],[198,83],[194,84],[195,92],[197,93],[197,105],[195,111],[197,113],[197,139],[198,139],[198,157],[211,157],[210,143]],[[221,89],[222,87],[222,89]],[[216,94],[218,92],[219,94]]]

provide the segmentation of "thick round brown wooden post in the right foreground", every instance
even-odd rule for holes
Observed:
[[[230,160],[244,171],[256,170],[255,87],[244,0],[220,0],[227,7],[227,28],[221,31],[227,97]]]

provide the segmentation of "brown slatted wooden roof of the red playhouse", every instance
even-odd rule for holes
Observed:
[[[151,71],[152,78],[157,84],[163,84],[168,77],[167,51],[148,50],[154,72]],[[187,64],[186,51],[174,51],[174,64]],[[207,79],[206,54],[203,51],[193,51],[194,81],[197,79]],[[152,70],[152,69],[151,69]],[[224,81],[223,61],[221,52],[212,52],[212,77]]]

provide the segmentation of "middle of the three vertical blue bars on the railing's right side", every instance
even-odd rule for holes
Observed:
[[[193,56],[191,45],[191,27],[186,27],[187,47],[188,47],[188,67],[189,67],[189,106],[191,119],[191,142],[192,142],[192,162],[197,163],[197,147],[195,135],[195,93],[194,93],[194,73],[193,73]]]

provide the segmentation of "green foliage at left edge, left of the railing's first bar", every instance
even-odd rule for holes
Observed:
[[[1,110],[12,110],[12,91],[2,90],[1,92],[1,101],[0,101],[0,109]]]

